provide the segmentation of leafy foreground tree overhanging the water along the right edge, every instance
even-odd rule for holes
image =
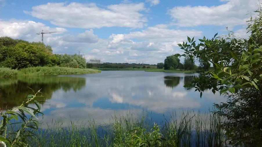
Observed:
[[[248,39],[233,34],[212,39],[188,37],[178,44],[183,55],[211,62],[216,69],[194,76],[188,88],[202,93],[212,90],[228,98],[226,103],[215,104],[218,114],[225,117],[223,127],[234,146],[261,146],[262,144],[262,11],[247,21]]]

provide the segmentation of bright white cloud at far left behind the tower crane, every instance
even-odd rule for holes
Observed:
[[[0,36],[25,39],[27,41],[41,41],[41,35],[36,34],[41,32],[41,30],[44,30],[44,32],[57,32],[55,34],[66,32],[65,28],[50,28],[44,23],[35,21],[17,19],[10,19],[8,21],[0,20]],[[45,34],[44,36],[50,37],[52,35],[53,34]]]

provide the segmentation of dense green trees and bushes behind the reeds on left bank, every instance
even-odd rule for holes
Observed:
[[[50,46],[0,37],[0,67],[21,69],[35,66],[64,66],[85,68],[86,60],[77,55],[55,55]]]

